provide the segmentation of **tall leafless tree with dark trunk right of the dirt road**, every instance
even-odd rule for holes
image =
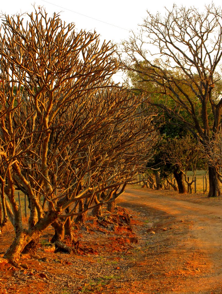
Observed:
[[[124,66],[137,74],[139,88],[149,83],[151,103],[199,138],[206,151],[221,130],[221,20],[214,4],[203,13],[174,5],[163,17],[148,12],[140,34],[123,44]],[[216,167],[209,164],[208,196],[219,195]]]

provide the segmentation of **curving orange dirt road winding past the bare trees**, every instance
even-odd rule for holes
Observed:
[[[137,207],[147,218],[146,233],[152,235],[153,247],[144,266],[151,288],[163,293],[222,293],[221,199],[127,188],[120,202]],[[154,254],[152,273],[149,262]]]

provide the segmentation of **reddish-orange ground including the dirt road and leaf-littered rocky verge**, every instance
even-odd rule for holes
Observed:
[[[0,293],[222,294],[222,200],[128,188],[123,209],[73,227],[73,254],[53,253],[49,228],[17,269],[2,256]]]

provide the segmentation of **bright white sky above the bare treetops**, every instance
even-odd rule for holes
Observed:
[[[213,2],[216,6],[221,4],[219,0]],[[164,14],[164,6],[171,9],[173,3],[176,3],[177,6],[185,5],[186,7],[193,5],[201,11],[204,4],[211,2],[201,0],[37,0],[36,2],[30,0],[1,0],[0,11],[12,15],[33,11],[33,4],[36,8],[44,6],[49,16],[53,12],[61,11],[61,19],[67,23],[74,22],[77,30],[94,31],[95,29],[100,34],[101,41],[105,39],[118,43],[128,38],[130,30],[137,30],[137,25],[142,24],[143,18],[147,15],[146,10],[153,14],[156,14],[157,11]]]

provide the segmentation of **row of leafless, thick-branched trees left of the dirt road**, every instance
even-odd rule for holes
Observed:
[[[12,262],[34,252],[49,225],[58,246],[72,238],[73,218],[120,196],[157,138],[146,101],[111,83],[109,44],[41,9],[26,19],[3,16],[0,35],[1,226],[8,217],[14,226],[4,255]],[[28,228],[18,190],[28,196]]]

